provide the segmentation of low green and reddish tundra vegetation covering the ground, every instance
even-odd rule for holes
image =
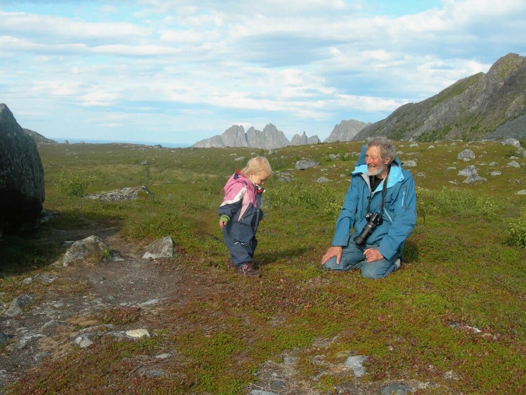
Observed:
[[[115,226],[137,250],[169,235],[177,253],[163,263],[164,270],[182,265],[201,279],[205,275],[209,287],[227,284],[228,292],[168,300],[163,314],[151,317],[126,309],[95,315],[99,323],[140,320],[152,337],[103,338],[44,361],[6,393],[241,394],[257,384],[254,373],[265,361],[279,363],[291,350],[299,356],[298,381],[318,393],[336,393],[352,374],[320,376],[323,367],[309,351],[319,338],[333,339],[326,361],[342,362],[343,351],[368,356],[368,374],[361,380],[433,383],[418,389],[420,394],[525,393],[526,196],[515,194],[526,189],[525,159],[516,159],[519,168],[506,167],[517,150],[494,142],[395,142],[402,161],[417,162],[408,170],[417,184],[418,224],[406,242],[401,270],[371,281],[320,268],[361,145],[323,143],[271,154],[253,148],[40,145],[44,207],[59,213],[42,225],[43,232]],[[476,159],[459,161],[467,147]],[[276,172],[265,184],[266,219],[255,256],[263,276],[256,281],[229,269],[217,226],[222,186],[253,155],[267,156]],[[294,170],[304,158],[321,165]],[[145,160],[148,165],[141,164]],[[462,183],[458,171],[470,164],[488,181]],[[489,175],[494,170],[502,174]],[[279,172],[294,180],[278,181]],[[320,176],[331,181],[317,184]],[[155,197],[79,197],[137,185]],[[51,270],[65,251],[62,243],[4,235],[0,249],[1,302],[57,287],[22,279]],[[63,293],[86,291],[82,283],[60,287]],[[164,377],[130,374],[133,366],[126,361],[162,352],[177,356]]]

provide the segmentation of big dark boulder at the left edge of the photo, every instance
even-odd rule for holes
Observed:
[[[0,231],[34,221],[44,202],[44,170],[33,138],[0,104]]]

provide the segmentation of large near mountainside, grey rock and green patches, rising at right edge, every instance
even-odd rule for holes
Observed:
[[[508,54],[487,74],[474,74],[422,102],[404,104],[363,128],[354,140],[378,135],[392,140],[481,140],[526,114],[525,107],[526,57]]]

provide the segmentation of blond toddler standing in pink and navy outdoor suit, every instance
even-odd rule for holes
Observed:
[[[270,163],[256,156],[241,171],[236,170],[225,184],[225,198],[219,206],[219,228],[230,251],[232,265],[241,275],[259,277],[252,256],[258,244],[256,231],[263,216],[261,186],[272,176]]]

